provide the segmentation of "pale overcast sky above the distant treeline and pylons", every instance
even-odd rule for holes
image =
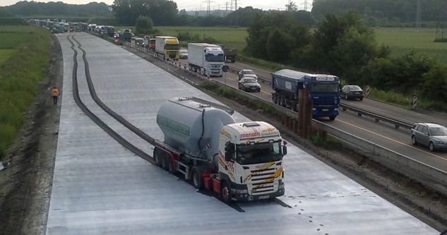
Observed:
[[[37,0],[38,1],[38,0]],[[66,4],[88,4],[91,2],[91,0],[61,0]],[[174,0],[177,3],[177,7],[179,10],[186,9],[186,11],[192,11],[192,10],[206,10],[208,4],[208,0]],[[225,9],[226,2],[228,2],[228,8],[230,9],[231,1],[232,0],[209,0],[210,6],[212,9]],[[293,1],[293,0],[292,0]],[[306,0],[294,0],[293,2],[297,4],[299,10],[304,10],[304,1]],[[18,0],[0,0],[0,6],[9,6],[13,5]],[[48,1],[43,1],[48,2]],[[98,1],[98,2],[105,2],[106,4],[113,4],[113,0],[105,0],[105,1]],[[308,11],[311,9],[311,3],[312,0],[307,0],[308,2]],[[285,10],[285,4],[288,4],[289,0],[237,0],[237,7],[246,7],[246,6],[252,6],[253,8],[262,8],[263,10],[268,9],[280,9]],[[234,7],[234,0],[233,0],[233,7]]]

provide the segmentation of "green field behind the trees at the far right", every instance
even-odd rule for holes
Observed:
[[[433,42],[436,38],[434,28],[376,28],[375,31],[377,42],[388,45],[395,55],[417,49],[447,64],[447,43]]]

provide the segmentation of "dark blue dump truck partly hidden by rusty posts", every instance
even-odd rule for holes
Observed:
[[[314,117],[327,116],[334,120],[338,116],[340,80],[337,76],[311,74],[290,69],[282,69],[272,73],[272,88],[275,90],[273,103],[297,111],[299,92],[309,88],[309,99],[313,102]]]

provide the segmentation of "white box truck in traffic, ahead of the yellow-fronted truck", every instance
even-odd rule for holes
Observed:
[[[189,43],[188,64],[192,71],[200,71],[204,76],[223,76],[225,66],[222,48],[215,44]]]

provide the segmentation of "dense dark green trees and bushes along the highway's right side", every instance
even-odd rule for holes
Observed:
[[[447,66],[413,50],[391,56],[374,30],[354,11],[325,13],[318,28],[290,12],[258,14],[248,29],[249,56],[280,62],[311,73],[331,73],[345,83],[371,85],[405,95],[420,93],[447,109]]]

